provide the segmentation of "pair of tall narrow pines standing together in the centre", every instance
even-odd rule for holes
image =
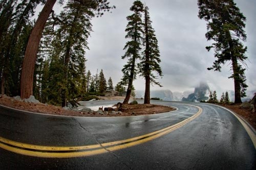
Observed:
[[[149,104],[151,83],[161,86],[154,75],[156,72],[162,77],[158,41],[151,25],[148,7],[144,7],[140,1],[135,1],[130,10],[133,14],[126,17],[128,23],[125,29],[127,32],[125,38],[129,41],[124,46],[126,52],[122,56],[122,59],[127,59],[127,64],[122,69],[121,84],[128,85],[123,104],[127,104],[130,100],[134,90],[133,81],[137,74],[145,78],[144,104]]]

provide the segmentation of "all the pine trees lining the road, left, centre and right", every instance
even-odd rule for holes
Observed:
[[[63,5],[59,14],[52,10],[56,2]],[[40,5],[44,8],[35,21],[32,18]],[[230,62],[234,103],[242,103],[247,88],[247,47],[243,45],[246,17],[233,1],[198,0],[198,7],[198,17],[207,21],[206,39],[212,42],[206,49],[214,50],[216,58],[208,69],[221,71],[222,65]],[[133,80],[138,75],[145,80],[143,99],[144,104],[149,104],[150,85],[161,86],[156,79],[162,77],[162,70],[158,40],[146,4],[134,1],[132,14],[126,17],[127,42],[121,58],[127,63],[120,70],[121,81],[114,87],[102,69],[99,74],[98,70],[96,74],[86,70],[91,20],[114,9],[108,0],[0,1],[1,94],[20,95],[22,99],[34,95],[41,103],[62,107],[104,95],[125,95],[123,103],[127,104],[135,95]],[[227,92],[218,100],[214,91],[208,101],[202,102],[232,105]]]

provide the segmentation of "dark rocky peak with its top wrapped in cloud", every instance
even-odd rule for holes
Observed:
[[[194,93],[190,93],[187,98],[183,97],[183,102],[200,102],[208,100],[210,88],[206,82],[200,82],[198,87],[195,87]]]

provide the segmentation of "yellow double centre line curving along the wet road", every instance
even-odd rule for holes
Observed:
[[[12,141],[12,140],[0,137],[0,148],[17,153],[17,154],[35,156],[35,157],[45,157],[45,158],[71,158],[71,157],[97,155],[97,154],[102,154],[110,151],[112,152],[112,151],[129,148],[134,145],[153,140],[155,138],[158,138],[162,135],[165,135],[167,133],[170,133],[182,127],[183,125],[195,119],[202,113],[202,109],[200,107],[198,106],[194,106],[194,107],[197,107],[199,111],[195,115],[183,120],[182,122],[169,126],[167,128],[152,132],[152,133],[133,137],[130,139],[107,142],[102,144],[77,146],[77,147],[48,147],[48,146],[20,143],[20,142],[16,142],[16,141]]]

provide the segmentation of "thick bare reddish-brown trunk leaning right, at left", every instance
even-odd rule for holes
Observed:
[[[36,20],[34,28],[31,31],[25,52],[22,66],[22,76],[20,80],[20,96],[22,99],[29,98],[30,95],[33,95],[33,75],[38,46],[42,36],[42,31],[45,28],[46,21],[55,3],[56,0],[47,0],[44,8]]]

